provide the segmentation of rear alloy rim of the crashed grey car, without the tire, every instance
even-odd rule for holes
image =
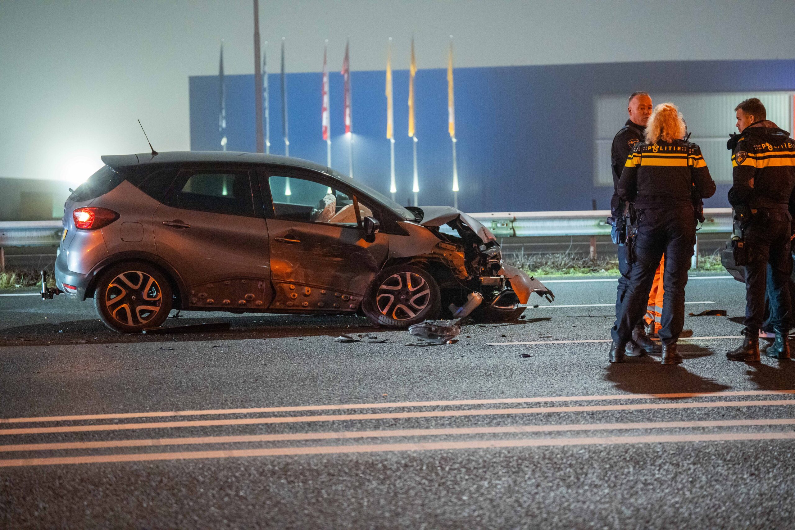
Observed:
[[[137,270],[118,274],[105,290],[111,317],[125,326],[140,326],[161,310],[163,293],[157,280]]]

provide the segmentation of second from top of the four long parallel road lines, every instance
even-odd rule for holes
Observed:
[[[239,418],[235,420],[192,420],[163,421],[136,424],[79,425],[68,427],[29,427],[0,429],[0,435],[36,435],[52,432],[88,431],[130,431],[139,429],[165,429],[174,427],[210,427],[218,425],[262,425],[262,424],[303,424],[326,421],[351,420],[394,420],[405,418],[447,418],[456,416],[506,416],[511,414],[549,414],[553,412],[596,412],[657,410],[668,408],[723,408],[723,407],[771,407],[795,405],[792,400],[757,401],[707,401],[697,403],[656,403],[621,405],[580,405],[576,407],[534,407],[534,408],[479,408],[472,410],[424,411],[424,412],[373,412],[367,414],[333,414],[325,416],[281,416],[266,418]]]

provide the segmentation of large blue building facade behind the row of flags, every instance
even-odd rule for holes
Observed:
[[[227,149],[254,151],[254,75],[225,79]],[[283,154],[279,75],[269,79],[270,152]],[[385,72],[352,72],[351,83],[354,176],[388,194]],[[408,83],[408,71],[394,72],[396,199],[402,204],[413,197]],[[447,72],[420,70],[415,83],[419,203],[452,204]],[[330,84],[332,166],[347,173],[342,76],[332,73]],[[325,164],[320,88],[320,72],[287,75],[290,155]],[[595,99],[638,90],[652,95],[795,91],[795,60],[456,68],[455,88],[458,202],[463,211],[590,210],[592,200],[606,209],[612,189],[595,184]],[[192,76],[189,91],[191,149],[220,149],[219,78]],[[615,129],[621,125],[616,123]],[[727,206],[728,188],[720,184],[707,206]]]

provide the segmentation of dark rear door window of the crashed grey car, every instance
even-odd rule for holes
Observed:
[[[248,172],[192,172],[177,179],[169,206],[215,214],[254,215]]]

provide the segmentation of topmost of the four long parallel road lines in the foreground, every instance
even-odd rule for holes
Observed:
[[[394,401],[391,403],[351,403],[331,405],[298,405],[293,407],[258,408],[219,408],[208,410],[184,410],[164,412],[122,412],[118,414],[83,414],[79,416],[39,416],[31,418],[4,418],[0,424],[27,424],[45,421],[74,420],[118,420],[126,418],[167,418],[173,416],[218,416],[222,414],[254,414],[261,412],[309,412],[320,410],[351,410],[356,408],[409,408],[409,407],[449,407],[483,404],[552,403],[556,401],[608,401],[608,400],[653,400],[681,399],[683,397],[739,397],[739,396],[780,396],[795,394],[789,390],[731,390],[723,392],[679,392],[666,394],[606,394],[591,396],[545,396],[545,397],[502,397],[483,400],[439,400],[439,401]]]

